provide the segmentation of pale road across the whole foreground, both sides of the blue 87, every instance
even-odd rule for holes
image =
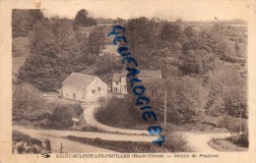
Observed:
[[[63,143],[64,152],[115,152],[108,149],[99,148],[92,145],[76,142],[64,138],[65,136],[80,136],[88,138],[101,138],[106,140],[122,140],[122,141],[152,141],[156,139],[154,136],[133,136],[121,134],[105,134],[92,132],[78,132],[78,131],[57,131],[57,130],[34,130],[15,126],[14,130],[20,131],[26,135],[32,136],[43,141],[46,137],[50,139],[52,148],[59,151],[61,142]],[[197,152],[211,152],[218,151],[208,145],[208,141],[213,137],[224,138],[230,136],[229,134],[205,134],[205,133],[184,133],[187,139],[187,145],[193,151]]]

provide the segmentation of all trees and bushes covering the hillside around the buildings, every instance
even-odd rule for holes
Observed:
[[[199,127],[206,118],[216,120],[226,115],[230,117],[226,121],[230,122],[224,124],[231,125],[222,127],[232,135],[237,134],[237,124],[232,123],[232,119],[240,115],[248,119],[247,36],[244,34],[247,28],[244,22],[239,23],[245,27],[232,27],[232,21],[186,23],[181,19],[167,22],[145,17],[117,18],[114,22],[126,28],[125,36],[139,68],[160,70],[162,74],[162,80],[145,82],[160,123],[163,121],[163,92],[166,91],[167,123]],[[101,55],[104,45],[101,31],[95,30],[90,36],[79,32],[79,27],[96,26],[96,19],[86,10],[79,11],[74,20],[44,18],[39,10],[13,10],[12,25],[13,37],[29,37],[28,48],[32,53],[17,73],[13,95],[15,124],[69,128],[71,117],[81,114],[80,106],[48,106],[38,95],[39,91],[57,91],[61,81],[74,72],[90,72],[88,74],[109,81],[113,73],[123,69],[119,58]],[[24,51],[18,50],[14,41],[13,57],[22,53]],[[241,58],[239,62],[235,57]],[[153,122],[142,120],[133,100],[130,95],[109,99],[96,112],[96,119],[122,128],[148,127]],[[216,124],[213,127],[217,128]],[[244,123],[244,134],[233,137],[232,141],[246,146],[246,131]]]

